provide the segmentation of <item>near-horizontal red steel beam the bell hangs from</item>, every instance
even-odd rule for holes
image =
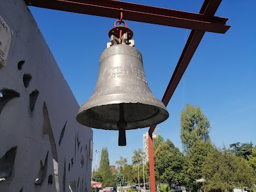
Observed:
[[[84,13],[118,19],[120,8],[125,20],[134,20],[150,24],[172,26],[176,28],[225,33],[226,18],[203,15],[200,13],[181,12],[142,4],[126,3],[113,0],[24,0],[30,6],[49,8],[66,12]]]

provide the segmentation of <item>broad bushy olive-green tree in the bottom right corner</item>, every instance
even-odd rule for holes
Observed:
[[[237,157],[230,150],[212,150],[205,159],[202,172],[209,191],[232,191],[234,188],[251,188],[254,184],[253,168],[243,157]]]

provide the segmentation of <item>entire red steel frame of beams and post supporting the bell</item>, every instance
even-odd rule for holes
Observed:
[[[28,6],[49,8],[66,12],[84,13],[101,17],[119,18],[124,12],[125,20],[133,20],[176,28],[192,29],[188,41],[180,55],[180,59],[173,72],[163,96],[165,106],[172,98],[180,79],[191,61],[205,32],[226,33],[230,26],[226,25],[228,19],[214,17],[221,0],[205,0],[199,13],[181,12],[166,8],[146,6],[142,4],[126,3],[114,0],[24,0]],[[152,133],[156,125],[148,130],[148,153],[150,164],[150,191],[156,191],[154,173],[154,151]]]

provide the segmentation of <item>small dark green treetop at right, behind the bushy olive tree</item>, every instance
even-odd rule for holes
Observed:
[[[248,156],[252,155],[253,143],[232,143],[229,145],[231,151],[234,152],[236,156],[243,157],[248,160]]]

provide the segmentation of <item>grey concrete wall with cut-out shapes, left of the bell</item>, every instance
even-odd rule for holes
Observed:
[[[79,105],[24,1],[0,0],[0,15],[12,30],[0,68],[0,191],[90,191],[92,129],[76,122]]]

